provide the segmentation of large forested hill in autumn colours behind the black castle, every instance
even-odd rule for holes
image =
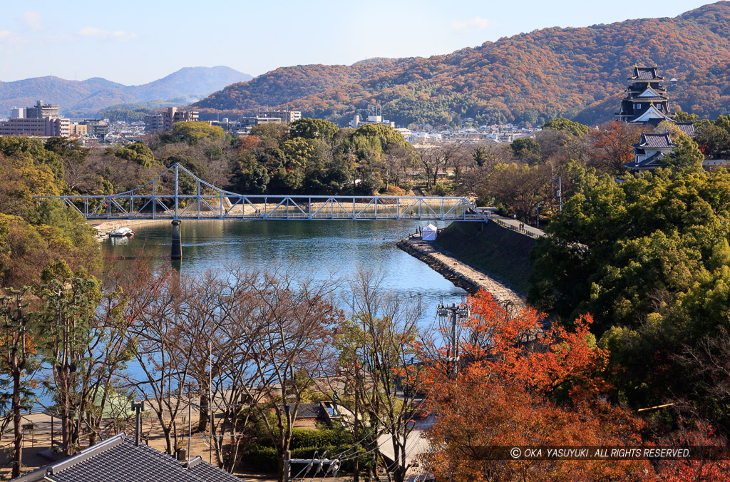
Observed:
[[[341,125],[369,102],[403,125],[466,117],[537,123],[558,116],[598,123],[612,118],[618,100],[607,99],[623,91],[638,63],[657,64],[666,79],[680,80],[671,92],[674,104],[715,116],[728,113],[728,61],[730,2],[720,1],[676,18],[544,28],[444,56],[284,67],[194,105],[203,114],[278,105]]]

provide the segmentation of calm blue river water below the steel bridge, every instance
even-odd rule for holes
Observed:
[[[439,228],[448,223],[436,223]],[[123,225],[122,225],[123,226]],[[208,269],[266,269],[273,264],[293,268],[301,276],[332,274],[348,278],[361,267],[385,275],[383,288],[404,297],[420,297],[422,323],[434,321],[439,299],[458,302],[466,292],[453,286],[425,263],[400,250],[396,242],[426,226],[423,221],[183,221],[183,273]],[[172,225],[161,222],[134,228],[130,239],[107,239],[104,256],[133,257],[144,250],[155,267],[169,267]],[[121,261],[118,269],[123,269]],[[347,296],[346,288],[340,289]]]

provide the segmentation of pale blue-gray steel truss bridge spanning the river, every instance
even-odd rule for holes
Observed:
[[[64,207],[77,210],[88,220],[487,221],[486,215],[463,197],[236,194],[206,183],[180,164],[169,167],[149,183],[120,194],[34,199],[58,199]]]

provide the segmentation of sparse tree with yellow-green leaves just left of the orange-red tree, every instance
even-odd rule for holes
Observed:
[[[382,445],[383,437],[388,439],[395,462],[388,467],[388,478],[402,482],[412,463],[408,461],[413,429],[409,420],[420,388],[420,364],[413,345],[418,338],[420,303],[385,294],[383,275],[372,271],[360,270],[350,287],[353,315],[343,324],[337,346],[345,382],[353,393],[348,404],[353,435],[367,440],[370,448]],[[356,478],[358,472],[356,465]]]

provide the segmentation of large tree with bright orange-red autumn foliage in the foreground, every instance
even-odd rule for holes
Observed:
[[[545,328],[526,308],[512,314],[491,294],[469,298],[459,321],[460,367],[447,376],[450,347],[419,345],[424,386],[437,421],[426,466],[437,480],[642,480],[645,461],[505,459],[496,447],[637,445],[641,421],[610,405],[602,377],[608,352],[596,345],[590,316],[575,329]],[[506,454],[507,451],[504,451]]]

